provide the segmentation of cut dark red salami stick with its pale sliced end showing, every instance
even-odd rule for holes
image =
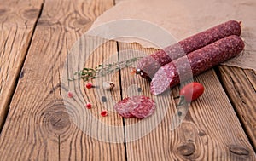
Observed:
[[[244,43],[241,38],[232,35],[195,50],[187,56],[173,60],[171,63],[160,67],[159,71],[155,73],[150,84],[150,91],[152,94],[158,95],[169,87],[172,88],[180,83],[181,77],[183,81],[188,80],[190,78],[189,72],[196,76],[212,68],[212,66],[235,57],[243,48]]]

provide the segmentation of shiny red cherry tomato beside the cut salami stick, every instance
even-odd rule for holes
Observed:
[[[185,101],[195,101],[204,93],[204,86],[201,83],[193,82],[185,85],[181,90],[179,95],[183,96]]]

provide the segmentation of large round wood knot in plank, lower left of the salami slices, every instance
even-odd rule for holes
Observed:
[[[51,124],[53,129],[61,130],[69,126],[70,120],[67,112],[54,112],[49,117],[49,123]]]

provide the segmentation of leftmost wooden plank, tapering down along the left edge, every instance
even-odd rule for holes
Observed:
[[[0,130],[43,0],[0,1]]]

